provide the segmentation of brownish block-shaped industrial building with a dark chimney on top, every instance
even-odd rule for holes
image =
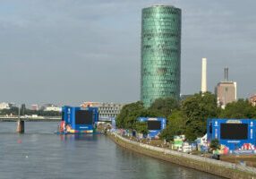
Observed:
[[[218,86],[215,89],[215,93],[218,98],[218,105],[222,108],[225,108],[227,103],[231,103],[236,100],[236,82],[228,81],[228,68],[224,69],[224,73],[224,81],[218,82]]]

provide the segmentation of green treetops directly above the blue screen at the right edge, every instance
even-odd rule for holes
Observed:
[[[221,110],[219,118],[256,118],[256,107],[252,107],[252,104],[247,99],[239,98],[236,102],[226,104],[225,109]]]

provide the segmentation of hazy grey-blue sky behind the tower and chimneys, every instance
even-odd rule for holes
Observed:
[[[237,97],[256,93],[253,0],[0,0],[0,102],[80,105],[140,100],[141,9],[182,9],[181,93],[229,68]]]

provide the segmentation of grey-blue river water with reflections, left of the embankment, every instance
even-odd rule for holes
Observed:
[[[55,135],[58,123],[0,123],[0,178],[221,178],[149,158],[101,134]]]

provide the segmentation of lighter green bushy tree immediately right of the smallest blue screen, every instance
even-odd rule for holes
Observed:
[[[181,111],[174,110],[171,115],[167,117],[166,129],[160,133],[160,139],[166,141],[173,141],[175,135],[181,135],[185,129],[186,118]]]

